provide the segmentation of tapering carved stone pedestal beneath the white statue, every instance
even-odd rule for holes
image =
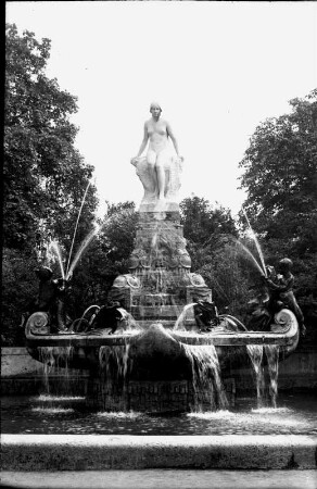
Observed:
[[[186,304],[212,300],[204,279],[190,268],[179,211],[163,217],[162,212],[139,212],[130,273],[114,280],[109,300],[121,302],[136,321],[170,326]]]

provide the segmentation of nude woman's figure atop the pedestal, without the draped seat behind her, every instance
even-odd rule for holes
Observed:
[[[158,103],[153,102],[150,106],[152,117],[144,123],[144,135],[137,156],[131,159],[131,163],[137,166],[140,156],[148,146],[147,165],[149,168],[152,184],[154,185],[156,198],[164,200],[166,191],[166,167],[170,165],[172,153],[168,145],[168,138],[172,139],[176,154],[179,156],[178,145],[167,121],[161,118],[162,109]],[[144,185],[144,184],[143,184]]]

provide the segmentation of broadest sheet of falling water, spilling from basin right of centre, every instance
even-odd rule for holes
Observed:
[[[214,344],[182,344],[182,348],[192,368],[193,411],[202,411],[205,406],[212,411],[226,409],[228,401]]]

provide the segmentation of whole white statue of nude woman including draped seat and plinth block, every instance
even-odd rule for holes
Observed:
[[[161,118],[160,104],[151,103],[150,112],[152,117],[144,123],[139,152],[131,159],[144,188],[140,212],[178,211],[177,192],[183,159],[179,155],[178,143],[169,123]],[[176,154],[168,139],[172,140]],[[147,155],[142,158],[147,147]]]

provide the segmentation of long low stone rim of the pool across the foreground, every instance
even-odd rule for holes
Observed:
[[[2,435],[2,471],[140,468],[316,469],[302,435]]]

